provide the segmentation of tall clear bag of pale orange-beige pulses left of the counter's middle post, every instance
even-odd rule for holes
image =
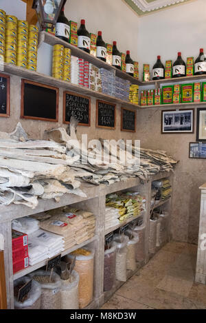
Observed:
[[[83,309],[93,299],[93,258],[94,251],[89,249],[77,249],[65,256],[65,261],[69,262],[76,256],[74,270],[80,276],[79,282],[79,306]]]

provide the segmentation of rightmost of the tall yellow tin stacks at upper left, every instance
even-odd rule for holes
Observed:
[[[27,69],[36,71],[37,65],[38,27],[29,25]]]

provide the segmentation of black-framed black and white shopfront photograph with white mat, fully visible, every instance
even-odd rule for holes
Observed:
[[[162,134],[194,133],[194,109],[162,111],[161,133]]]

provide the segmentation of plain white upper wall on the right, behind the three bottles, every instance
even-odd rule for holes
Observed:
[[[161,55],[162,63],[182,52],[183,59],[198,56],[199,49],[206,54],[206,1],[196,0],[181,6],[149,14],[139,19],[139,63],[151,67]]]

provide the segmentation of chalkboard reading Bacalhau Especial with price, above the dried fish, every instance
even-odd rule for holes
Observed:
[[[91,98],[65,91],[63,123],[69,124],[71,116],[78,119],[78,125],[90,127]]]

